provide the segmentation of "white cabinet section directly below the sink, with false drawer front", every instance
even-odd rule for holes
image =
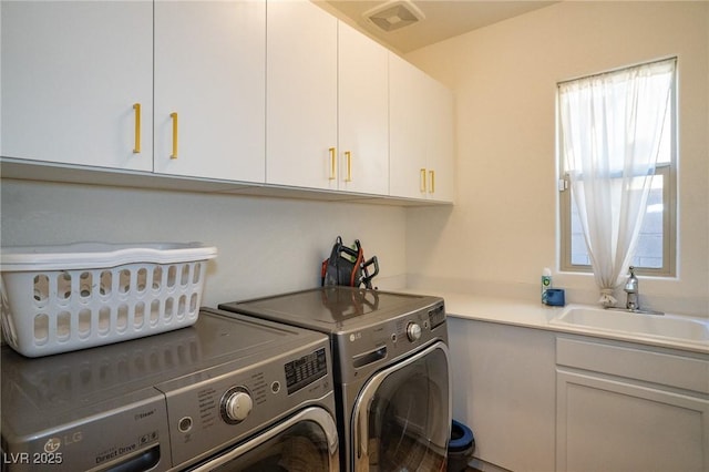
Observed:
[[[556,470],[709,470],[708,358],[557,339]]]

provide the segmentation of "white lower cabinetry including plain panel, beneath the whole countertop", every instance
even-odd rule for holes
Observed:
[[[453,418],[473,430],[476,460],[524,472],[709,471],[709,355],[448,320]]]

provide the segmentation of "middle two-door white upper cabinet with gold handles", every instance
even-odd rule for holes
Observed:
[[[389,193],[388,51],[309,1],[268,4],[266,179]]]

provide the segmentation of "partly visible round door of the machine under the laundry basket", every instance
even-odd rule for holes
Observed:
[[[312,407],[191,471],[338,472],[338,444],[337,425],[332,415],[322,408]]]

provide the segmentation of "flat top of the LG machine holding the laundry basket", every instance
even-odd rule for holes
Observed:
[[[135,396],[154,396],[158,383],[208,377],[227,365],[248,369],[314,342],[327,343],[327,337],[202,308],[194,326],[109,346],[34,359],[4,346],[2,425],[31,431],[104,414]]]

